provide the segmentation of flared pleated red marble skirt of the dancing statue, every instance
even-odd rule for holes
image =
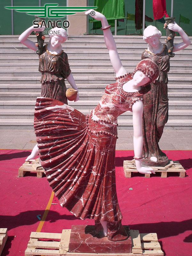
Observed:
[[[117,127],[41,97],[34,127],[42,167],[61,206],[81,219],[121,220],[115,182]]]

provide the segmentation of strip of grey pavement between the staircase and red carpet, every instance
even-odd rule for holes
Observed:
[[[118,130],[117,150],[133,150],[133,131]],[[0,149],[32,149],[33,130],[1,130]],[[162,150],[192,150],[191,130],[165,130],[159,146]]]

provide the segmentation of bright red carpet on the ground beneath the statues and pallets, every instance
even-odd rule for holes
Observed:
[[[179,160],[186,168],[185,178],[178,175],[143,178],[136,174],[126,179],[123,160],[133,151],[116,151],[116,179],[123,224],[140,233],[156,232],[166,256],[192,256],[192,151],[165,151],[169,159]],[[46,178],[18,178],[18,168],[29,151],[0,150],[1,208],[0,228],[8,228],[2,256],[24,255],[31,231],[36,231],[51,196]],[[191,168],[191,169],[190,169]],[[133,190],[129,190],[133,188]],[[76,219],[54,197],[42,232],[61,232],[73,224],[93,224]]]

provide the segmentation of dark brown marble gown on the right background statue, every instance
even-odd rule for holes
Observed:
[[[159,67],[160,75],[155,83],[151,83],[151,90],[143,95],[143,150],[142,157],[157,157],[164,160],[167,156],[159,148],[158,142],[163,134],[163,129],[168,120],[168,92],[167,92],[167,72],[170,69],[170,57],[167,46],[161,53],[154,54],[147,50],[142,53],[142,60],[150,58]]]

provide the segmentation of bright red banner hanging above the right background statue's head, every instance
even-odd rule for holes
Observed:
[[[166,0],[153,0],[153,16],[155,20],[163,18],[163,16],[169,17],[166,11]]]

